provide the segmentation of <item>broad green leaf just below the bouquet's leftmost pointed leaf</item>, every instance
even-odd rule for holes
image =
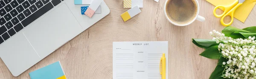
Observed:
[[[218,51],[218,45],[207,48],[204,52],[199,54],[201,56],[207,57],[209,59],[219,59],[221,53]]]

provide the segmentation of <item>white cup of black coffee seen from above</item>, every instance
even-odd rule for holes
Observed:
[[[198,0],[166,0],[164,13],[173,25],[186,26],[195,20],[204,22],[205,18],[199,14]]]

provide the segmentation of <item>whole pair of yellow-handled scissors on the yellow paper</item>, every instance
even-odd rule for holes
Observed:
[[[241,6],[242,4],[244,3],[244,0],[236,0],[234,3],[230,4],[230,5],[227,5],[227,6],[223,6],[223,5],[219,5],[219,6],[216,6],[213,10],[213,15],[215,17],[221,17],[221,24],[224,25],[224,26],[228,26],[228,25],[231,25],[233,23],[233,20],[234,20],[234,13],[236,11],[236,9]],[[224,12],[221,14],[221,15],[218,15],[216,14],[216,10],[218,8],[224,8]],[[230,16],[231,17],[231,21],[230,23],[224,23],[224,18],[226,16]]]

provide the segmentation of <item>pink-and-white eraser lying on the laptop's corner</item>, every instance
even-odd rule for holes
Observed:
[[[99,7],[99,5],[102,3],[102,1],[103,0],[93,0],[93,2],[87,8],[87,10],[84,12],[84,14],[87,15],[88,17],[90,17],[90,18],[93,17],[93,14],[95,13],[95,11]]]

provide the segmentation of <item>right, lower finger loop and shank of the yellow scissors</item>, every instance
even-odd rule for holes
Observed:
[[[221,17],[221,24],[224,25],[224,26],[228,26],[228,25],[231,25],[233,23],[233,20],[234,20],[234,13],[236,11],[236,9],[241,6],[242,3],[238,3],[235,7],[233,7],[230,11],[227,12],[227,14],[225,14],[223,17]],[[227,17],[227,16],[230,16],[231,17],[231,21],[230,23],[224,23],[224,18]]]

